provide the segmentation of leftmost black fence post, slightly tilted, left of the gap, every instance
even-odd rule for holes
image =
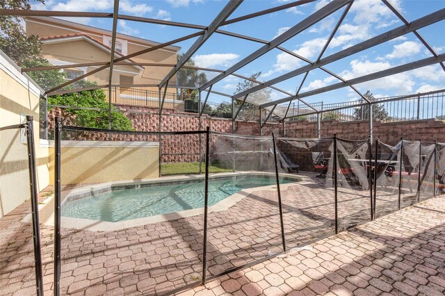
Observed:
[[[28,140],[28,165],[29,165],[29,186],[31,188],[31,214],[33,216],[33,242],[34,242],[34,265],[35,265],[35,285],[37,295],[43,295],[42,277],[42,251],[40,249],[40,224],[38,206],[38,185],[35,171],[35,149],[34,149],[34,128],[33,116],[26,116],[26,137]]]

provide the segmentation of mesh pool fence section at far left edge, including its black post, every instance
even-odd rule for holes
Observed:
[[[24,124],[0,128],[0,143],[0,295],[40,296],[43,281],[33,117],[26,117]],[[17,228],[19,222],[24,223]],[[17,272],[21,277],[18,282]]]

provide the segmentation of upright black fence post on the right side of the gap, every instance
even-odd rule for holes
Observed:
[[[60,152],[62,132],[62,120],[56,117],[54,130],[54,153],[55,153],[55,188],[54,188],[54,296],[60,295]]]

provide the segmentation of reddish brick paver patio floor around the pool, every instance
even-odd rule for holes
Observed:
[[[62,295],[443,295],[445,199],[435,198],[334,234],[334,191],[306,177],[282,191],[290,251],[191,290],[202,274],[202,215],[121,231],[63,232]],[[378,208],[396,210],[391,188]],[[385,194],[385,192],[388,192]],[[403,204],[415,194],[404,192]],[[369,220],[369,190],[339,187],[339,228]],[[0,220],[0,294],[32,295],[29,204]],[[42,225],[44,288],[51,295],[53,231]],[[296,248],[307,242],[304,248]],[[209,276],[282,250],[276,191],[248,195],[209,214]],[[367,294],[366,294],[367,293]]]

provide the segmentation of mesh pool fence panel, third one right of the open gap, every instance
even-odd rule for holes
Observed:
[[[334,139],[278,138],[277,150],[280,175],[302,176],[280,188],[286,245],[292,249],[335,233]]]

